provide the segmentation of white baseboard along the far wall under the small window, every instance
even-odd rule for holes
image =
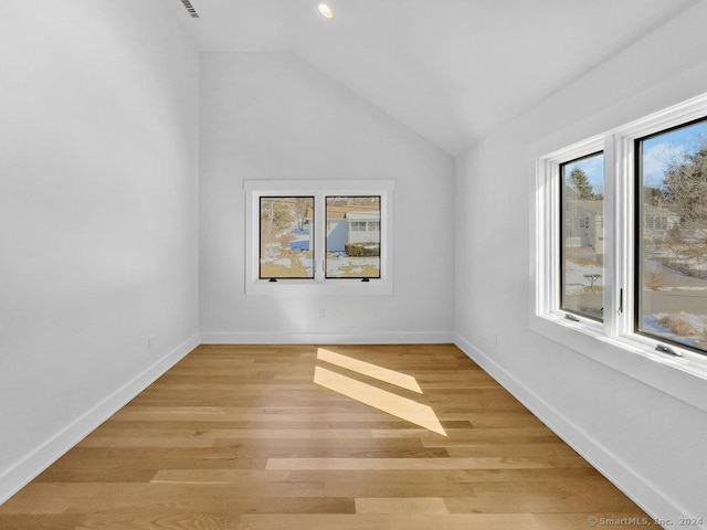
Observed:
[[[441,344],[452,342],[454,333],[440,331],[397,331],[367,333],[201,333],[202,344]]]

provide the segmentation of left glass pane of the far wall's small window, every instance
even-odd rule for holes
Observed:
[[[261,197],[261,278],[314,278],[314,197]]]

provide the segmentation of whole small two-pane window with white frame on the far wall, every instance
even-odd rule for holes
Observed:
[[[393,181],[245,181],[249,295],[391,294]]]

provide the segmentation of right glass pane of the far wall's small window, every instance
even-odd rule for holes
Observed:
[[[380,278],[380,197],[327,197],[327,278]]]

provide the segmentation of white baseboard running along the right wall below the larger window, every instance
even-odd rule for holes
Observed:
[[[671,499],[666,491],[648,483],[469,341],[454,333],[454,343],[646,513],[673,521],[690,517],[689,512]]]

